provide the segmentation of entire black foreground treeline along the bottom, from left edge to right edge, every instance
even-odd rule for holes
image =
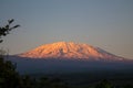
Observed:
[[[4,57],[0,56],[0,88],[76,88],[78,86],[71,86],[60,78],[40,77],[33,78],[29,75],[21,76],[17,70],[17,64],[12,64],[10,61],[4,61]],[[115,86],[109,80],[101,80],[94,85],[89,84],[86,87],[78,88],[133,88],[133,85]]]

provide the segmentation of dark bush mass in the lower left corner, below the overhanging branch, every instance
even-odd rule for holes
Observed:
[[[20,84],[16,66],[10,61],[3,61],[0,57],[0,88],[18,88]]]

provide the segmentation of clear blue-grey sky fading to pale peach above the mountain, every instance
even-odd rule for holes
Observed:
[[[0,0],[0,25],[9,19],[21,25],[0,44],[11,55],[64,41],[133,58],[133,0]]]

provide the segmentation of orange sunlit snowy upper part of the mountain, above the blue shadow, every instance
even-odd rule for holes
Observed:
[[[58,42],[44,44],[29,52],[19,54],[29,58],[60,58],[60,59],[86,59],[86,61],[124,61],[125,58],[108,53],[89,44],[73,42]]]

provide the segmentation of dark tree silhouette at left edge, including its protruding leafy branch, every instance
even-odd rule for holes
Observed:
[[[13,29],[19,28],[20,25],[11,26],[11,23],[14,20],[8,20],[8,24],[4,26],[0,26],[0,43],[2,36],[9,34],[9,32]],[[16,65],[13,65],[10,61],[4,61],[6,52],[0,50],[0,88],[20,88],[20,76],[19,73],[16,72]]]

